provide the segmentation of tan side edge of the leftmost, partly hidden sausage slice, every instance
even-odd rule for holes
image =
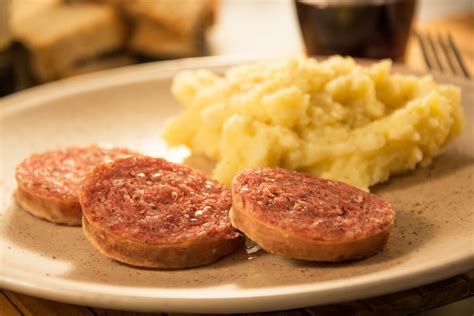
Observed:
[[[57,224],[81,225],[82,211],[78,200],[56,200],[34,194],[18,185],[17,203],[30,214]]]

